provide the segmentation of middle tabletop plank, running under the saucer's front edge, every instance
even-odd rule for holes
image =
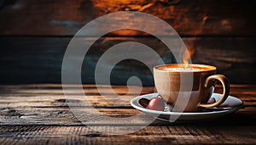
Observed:
[[[108,115],[113,118],[123,118],[120,122],[115,122],[114,125],[147,125],[148,121],[152,118],[145,116],[145,114],[139,114],[140,112],[133,108],[96,108],[100,113]],[[108,120],[104,118],[105,116],[97,114],[86,114],[90,112],[90,108],[73,108],[73,111],[80,111],[83,116],[74,116],[71,109],[68,107],[58,107],[58,106],[9,106],[0,109],[0,125],[113,125],[113,120]],[[217,119],[211,120],[201,120],[201,121],[191,121],[184,124],[191,125],[254,125],[256,121],[255,115],[255,104],[253,107],[246,107],[240,109],[234,114],[229,114]],[[131,120],[125,120],[131,115],[137,114],[137,117]],[[93,121],[90,119],[94,119]],[[161,120],[154,120],[150,125],[166,125],[170,124]],[[179,125],[178,122],[171,123],[171,125]]]

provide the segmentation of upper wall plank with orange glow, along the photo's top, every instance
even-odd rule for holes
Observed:
[[[0,35],[73,36],[79,29],[104,14],[140,11],[166,20],[183,36],[255,36],[255,1],[44,1],[2,0]],[[125,16],[113,18],[124,21]],[[44,19],[42,19],[44,18]],[[129,18],[127,18],[129,20]],[[142,24],[143,19],[127,25]],[[155,24],[151,23],[154,28]],[[106,27],[108,27],[107,25]],[[104,28],[102,28],[104,29]],[[158,33],[155,30],[155,33]],[[166,34],[168,34],[166,30]],[[166,35],[160,34],[160,35]],[[113,35],[146,35],[138,31],[116,31]]]

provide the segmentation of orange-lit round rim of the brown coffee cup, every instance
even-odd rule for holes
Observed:
[[[172,71],[172,70],[160,70],[160,67],[163,66],[180,66],[184,64],[161,64],[154,66],[154,70],[162,71],[162,72],[172,72],[172,73],[202,73],[202,72],[210,72],[210,71],[216,71],[217,68],[212,65],[208,64],[189,64],[189,66],[193,66],[195,68],[205,68],[206,70],[195,70],[195,71]]]

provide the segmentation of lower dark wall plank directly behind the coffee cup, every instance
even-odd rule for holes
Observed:
[[[0,83],[61,83],[61,63],[70,37],[1,37]],[[84,43],[91,38],[81,38]],[[255,84],[256,62],[254,37],[185,37],[193,53],[193,63],[212,64],[218,73],[227,75],[231,83]],[[90,49],[82,67],[82,81],[94,83],[94,70],[98,59],[109,47],[119,42],[141,42],[159,53],[165,63],[175,60],[166,46],[154,37],[102,37]],[[174,41],[175,42],[175,41]],[[127,50],[129,53],[129,50]],[[149,59],[147,64],[157,61]],[[144,86],[153,86],[153,76],[144,64],[124,61],[116,65],[111,80],[113,84],[126,84],[137,75]],[[239,76],[239,77],[238,77]]]

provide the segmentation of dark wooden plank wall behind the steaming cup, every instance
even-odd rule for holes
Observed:
[[[217,66],[231,83],[255,84],[255,5],[254,0],[0,0],[0,83],[60,83],[63,55],[73,35],[99,16],[133,10],[172,25],[194,52],[193,63]],[[90,36],[83,39],[90,42]],[[114,31],[90,48],[83,82],[94,82],[95,64],[103,50],[127,41],[147,43],[166,63],[172,62],[165,46],[153,36]],[[113,84],[138,75],[144,85],[154,85],[143,64],[119,65],[123,69],[113,70]]]

